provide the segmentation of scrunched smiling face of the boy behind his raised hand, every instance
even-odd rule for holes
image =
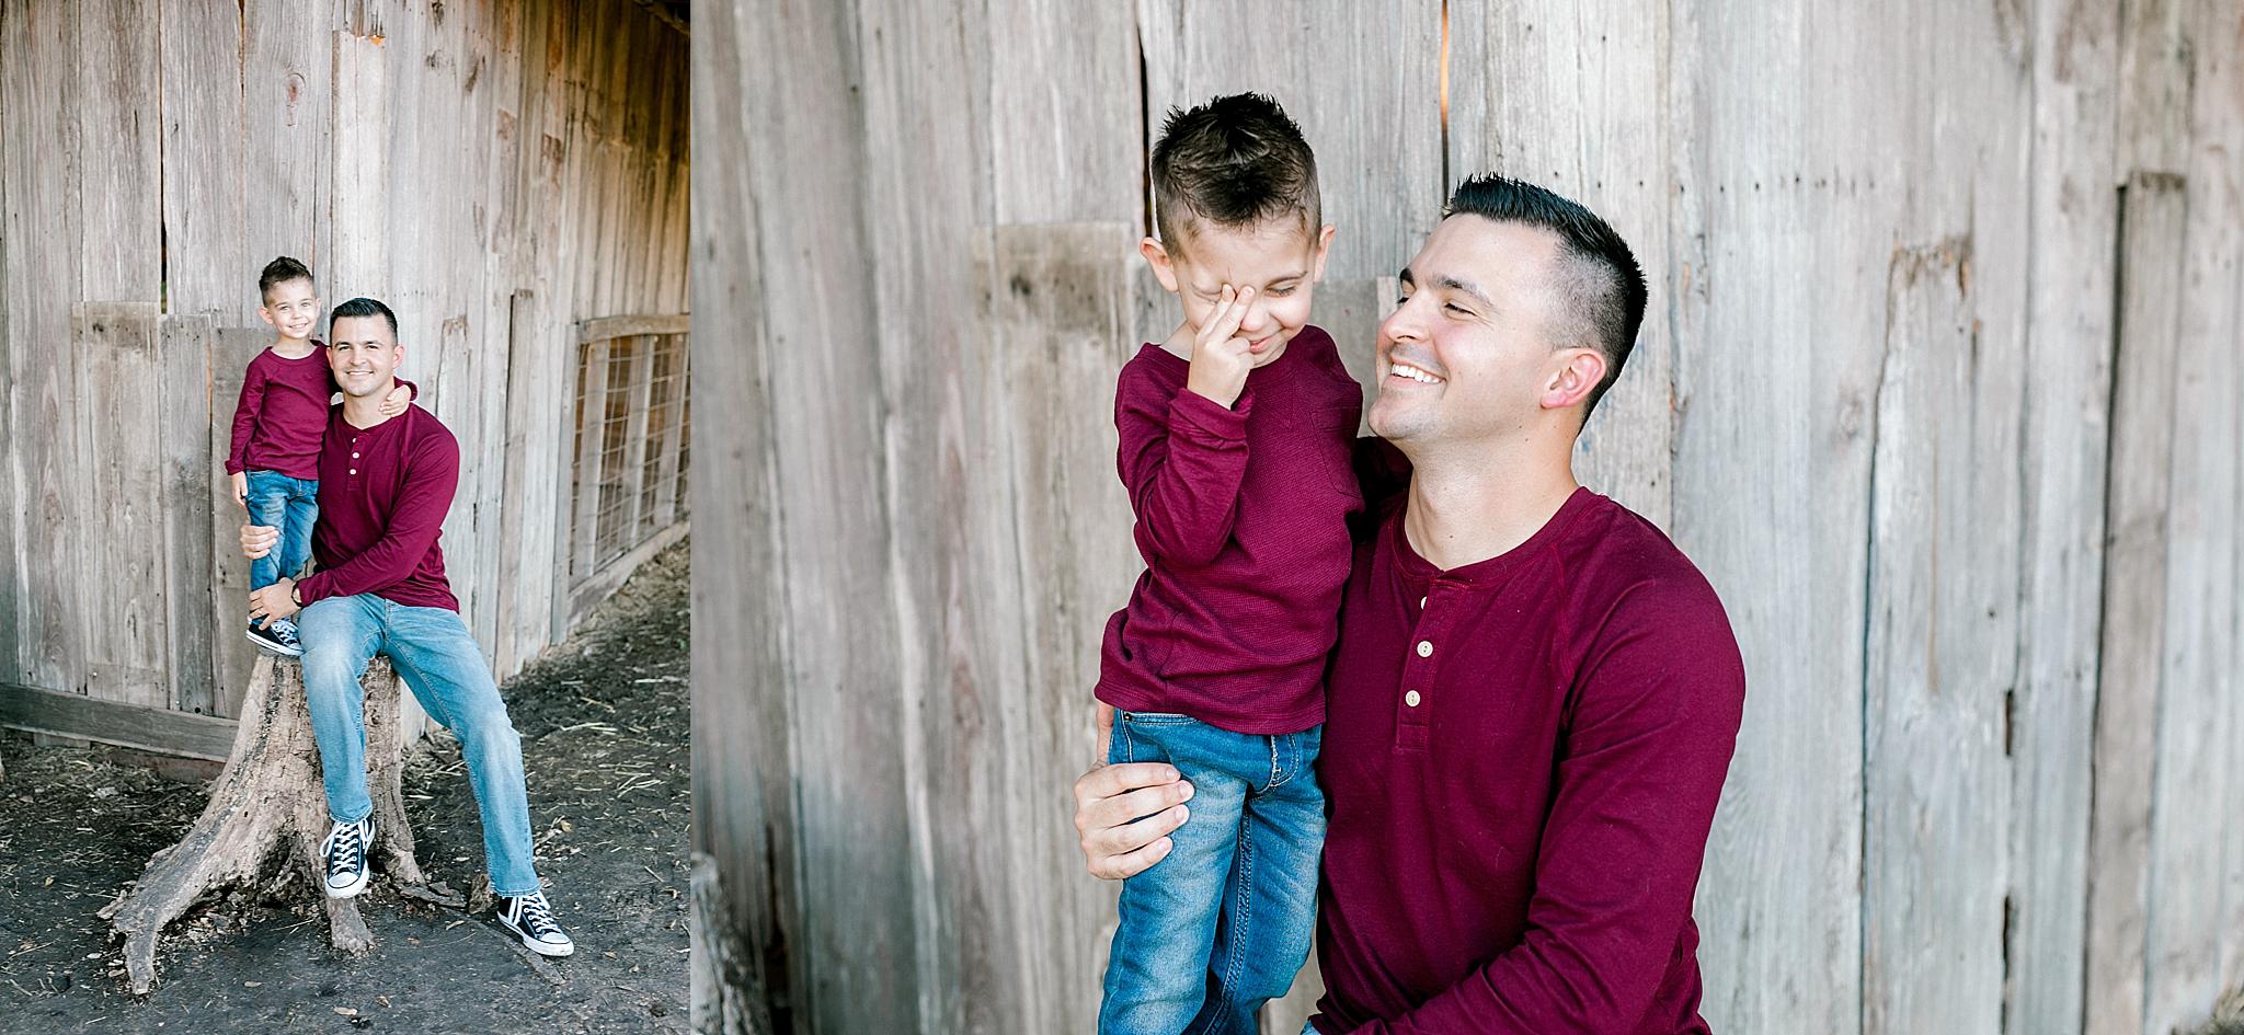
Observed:
[[[1257,227],[1216,227],[1194,222],[1178,233],[1174,249],[1144,238],[1138,251],[1153,276],[1185,305],[1185,323],[1198,335],[1214,312],[1223,287],[1254,287],[1239,337],[1248,339],[1254,366],[1286,352],[1308,326],[1310,287],[1324,278],[1324,254],[1333,245],[1333,227],[1308,233],[1297,220],[1281,218]]]

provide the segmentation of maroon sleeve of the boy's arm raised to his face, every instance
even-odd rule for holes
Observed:
[[[1122,370],[1118,467],[1138,528],[1165,561],[1203,568],[1230,541],[1248,469],[1250,402],[1239,400],[1232,411],[1189,388],[1169,397],[1151,379]]]

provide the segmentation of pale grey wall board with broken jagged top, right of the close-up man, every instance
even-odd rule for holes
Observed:
[[[1970,242],[1896,249],[1871,460],[1863,1031],[2002,1031],[2020,337]],[[1981,350],[1981,346],[1988,346]],[[2006,346],[2006,348],[2004,348]]]

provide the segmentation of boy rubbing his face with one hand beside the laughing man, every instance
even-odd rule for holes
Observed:
[[[1254,1033],[1308,956],[1324,846],[1313,763],[1362,494],[1362,388],[1308,326],[1333,227],[1299,126],[1261,94],[1171,112],[1153,148],[1183,303],[1115,388],[1144,575],[1106,622],[1109,761],[1192,781],[1169,853],[1122,885],[1102,1035]]]

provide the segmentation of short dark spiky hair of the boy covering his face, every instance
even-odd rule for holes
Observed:
[[[1317,155],[1302,128],[1263,94],[1216,97],[1169,110],[1153,144],[1153,227],[1169,251],[1192,220],[1257,227],[1293,216],[1322,222]]]

